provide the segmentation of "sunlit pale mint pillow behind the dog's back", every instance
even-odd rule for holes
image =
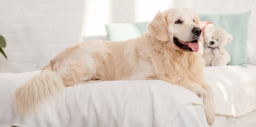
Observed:
[[[142,23],[110,23],[106,24],[108,40],[123,41],[139,37],[148,30],[149,22]]]

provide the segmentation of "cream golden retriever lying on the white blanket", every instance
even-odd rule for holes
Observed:
[[[158,12],[148,31],[126,41],[87,41],[55,56],[40,74],[17,88],[14,112],[28,115],[64,87],[94,81],[164,80],[204,98],[205,116],[214,122],[212,88],[204,82],[204,59],[197,53],[203,41],[192,10],[175,7]]]

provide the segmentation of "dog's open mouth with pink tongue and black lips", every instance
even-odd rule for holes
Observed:
[[[176,46],[184,50],[188,50],[191,52],[197,52],[199,50],[199,44],[197,40],[193,40],[191,42],[182,42],[177,38],[173,38],[173,41]]]

